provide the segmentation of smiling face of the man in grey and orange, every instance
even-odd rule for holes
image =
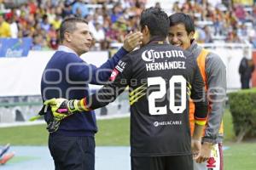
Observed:
[[[172,45],[183,49],[188,49],[191,45],[191,40],[194,37],[194,31],[188,33],[183,24],[171,26],[169,29],[168,40]]]

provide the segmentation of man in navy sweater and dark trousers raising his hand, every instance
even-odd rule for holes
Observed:
[[[49,60],[42,77],[43,100],[83,99],[89,94],[88,84],[107,82],[119,59],[139,45],[142,35],[139,32],[129,34],[124,46],[99,68],[79,58],[89,51],[92,42],[86,21],[79,18],[64,20],[61,23],[60,39],[61,46]],[[52,113],[47,111],[44,118],[49,123]],[[56,170],[95,169],[94,135],[97,127],[94,111],[68,116],[57,129],[50,132],[49,150]]]

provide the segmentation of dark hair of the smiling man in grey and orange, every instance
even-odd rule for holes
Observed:
[[[169,20],[170,26],[183,24],[188,34],[192,31],[195,32],[194,20],[189,14],[175,13],[169,16]]]

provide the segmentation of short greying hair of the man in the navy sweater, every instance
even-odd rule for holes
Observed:
[[[88,24],[86,20],[78,17],[71,17],[63,20],[61,22],[61,27],[60,27],[60,40],[63,42],[64,40],[64,34],[65,32],[69,31],[75,31],[77,29],[76,23],[85,23]]]

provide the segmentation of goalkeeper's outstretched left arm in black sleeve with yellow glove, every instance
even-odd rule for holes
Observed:
[[[113,69],[110,82],[103,86],[96,94],[85,96],[84,99],[49,99],[44,105],[50,105],[55,116],[60,120],[75,112],[90,111],[108,105],[121,94],[129,85],[132,75],[131,57],[126,55],[124,59]]]

